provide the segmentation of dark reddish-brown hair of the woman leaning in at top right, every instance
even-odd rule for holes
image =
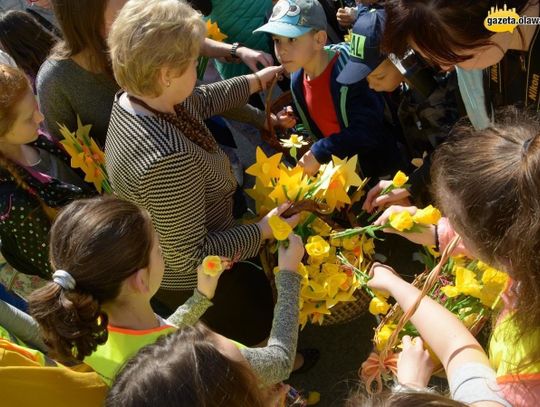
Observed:
[[[414,43],[438,65],[455,65],[471,55],[458,55],[493,45],[495,34],[484,27],[491,7],[516,8],[518,14],[531,0],[389,0],[385,3],[386,25],[382,49],[403,55]]]

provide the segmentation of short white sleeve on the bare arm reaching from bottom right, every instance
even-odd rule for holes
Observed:
[[[493,401],[501,406],[512,407],[502,396],[495,371],[482,363],[466,363],[448,379],[452,399],[472,404]]]

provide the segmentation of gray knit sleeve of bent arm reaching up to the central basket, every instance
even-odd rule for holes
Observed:
[[[300,274],[281,270],[276,275],[278,300],[268,345],[240,349],[264,386],[281,382],[291,374],[298,342]]]

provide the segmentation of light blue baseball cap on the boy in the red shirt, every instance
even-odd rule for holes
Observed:
[[[253,32],[296,38],[312,30],[326,31],[326,14],[317,0],[279,0],[268,23]]]

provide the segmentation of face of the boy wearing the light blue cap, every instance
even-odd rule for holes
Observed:
[[[323,48],[324,42],[321,45],[318,36],[319,33],[313,32],[297,38],[272,35],[278,61],[287,72],[294,72],[304,68],[313,59],[315,53]]]

